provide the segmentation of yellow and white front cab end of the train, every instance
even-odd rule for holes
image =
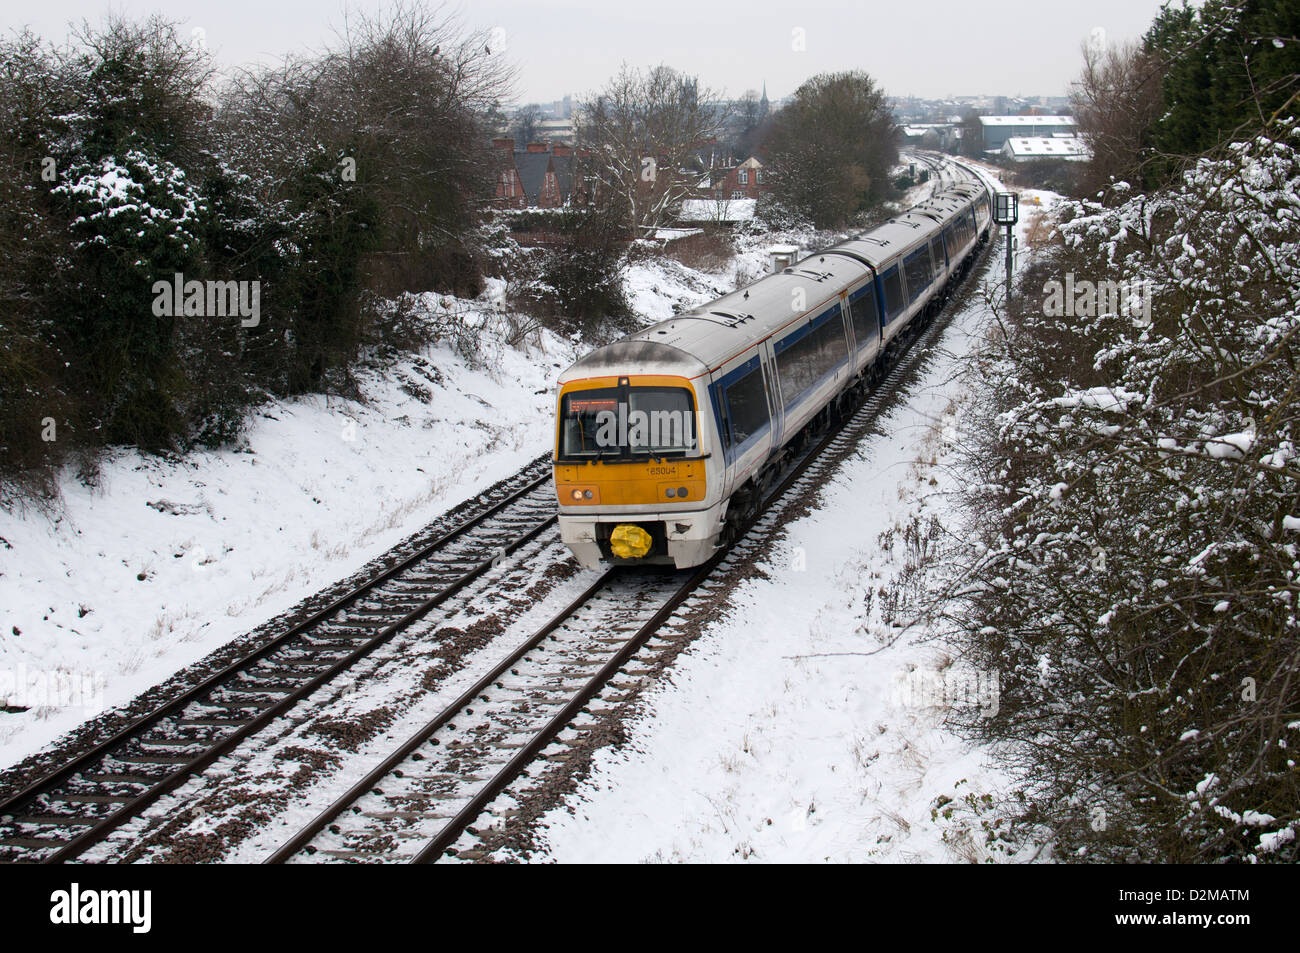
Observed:
[[[714,554],[725,512],[724,467],[710,452],[711,413],[701,412],[708,410],[706,386],[676,376],[562,385],[554,469],[559,528],[582,566],[686,568]]]

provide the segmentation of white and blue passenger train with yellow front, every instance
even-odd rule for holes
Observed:
[[[598,347],[560,374],[560,537],[588,568],[699,566],[879,380],[988,241],[959,182],[840,244]]]

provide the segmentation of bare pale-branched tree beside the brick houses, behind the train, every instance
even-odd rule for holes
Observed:
[[[725,126],[714,90],[668,66],[627,65],[581,107],[578,143],[592,152],[597,200],[632,226],[656,228],[685,199],[692,155]]]

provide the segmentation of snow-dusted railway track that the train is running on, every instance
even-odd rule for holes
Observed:
[[[875,424],[952,309],[940,315],[901,342],[876,387],[788,469],[732,549],[694,571],[603,573],[268,862],[419,863],[488,855],[476,840],[515,810],[511,785],[540,761],[564,759],[547,750],[590,711],[593,699],[618,705],[653,675],[656,653],[681,637],[676,623],[693,597],[760,545],[789,506],[806,502]]]

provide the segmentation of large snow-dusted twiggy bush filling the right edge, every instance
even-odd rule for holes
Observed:
[[[1286,122],[1069,207],[985,368],[956,615],[1065,857],[1300,857],[1297,150]],[[1127,298],[1054,307],[1066,273]]]

